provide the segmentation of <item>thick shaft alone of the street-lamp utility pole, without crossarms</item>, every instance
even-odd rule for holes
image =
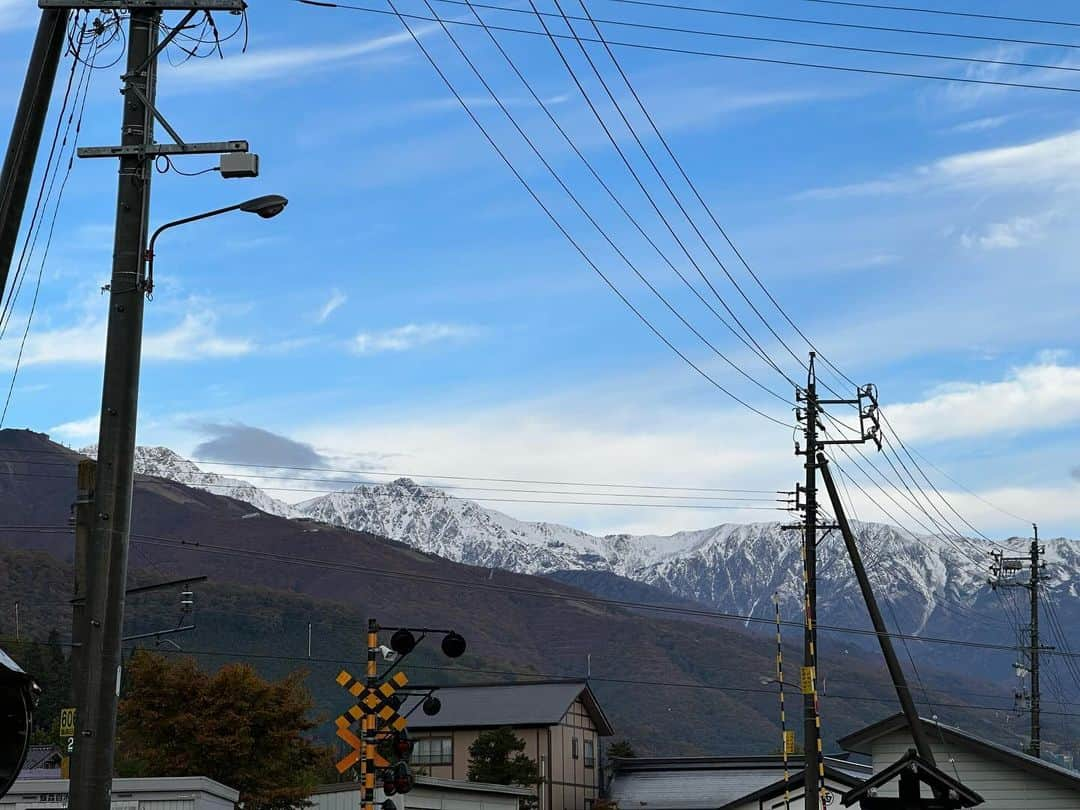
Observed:
[[[108,336],[97,440],[94,530],[87,554],[84,702],[77,717],[69,805],[107,810],[112,793],[117,705],[120,700],[121,637],[127,546],[131,535],[138,411],[144,260],[150,211],[153,144],[151,104],[156,86],[154,45],[161,12],[133,8],[127,26],[117,229],[109,285]]]

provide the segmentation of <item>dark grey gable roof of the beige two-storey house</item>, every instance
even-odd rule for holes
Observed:
[[[426,687],[413,688],[413,690]],[[409,728],[500,728],[502,726],[556,726],[578,698],[596,724],[597,733],[615,733],[593,690],[582,680],[544,680],[480,686],[443,686],[435,692],[443,708],[434,717],[415,712]],[[421,698],[409,698],[400,710],[411,711]]]

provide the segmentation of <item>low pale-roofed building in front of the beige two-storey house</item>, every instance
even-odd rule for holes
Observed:
[[[521,810],[522,800],[535,796],[528,787],[488,785],[460,779],[417,777],[416,786],[392,798],[397,810]],[[321,785],[311,795],[311,810],[356,810],[363,804],[360,785],[347,782]],[[375,806],[381,807],[386,795],[375,791]]]

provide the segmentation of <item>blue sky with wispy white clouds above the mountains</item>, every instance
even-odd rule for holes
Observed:
[[[427,14],[422,2],[400,8]],[[440,8],[467,18],[461,6]],[[597,17],[727,33],[1080,65],[1080,51],[1064,48],[716,18],[610,0],[589,8]],[[1068,28],[805,0],[724,8],[1076,39]],[[1015,2],[985,2],[978,10],[1028,12]],[[495,24],[537,27],[525,15],[483,13]],[[1068,19],[1070,13],[1064,2],[1039,5],[1044,17]],[[5,120],[35,18],[30,3],[0,0]],[[153,220],[259,193],[286,194],[291,204],[270,221],[233,215],[162,238],[158,287],[147,308],[140,443],[191,454],[228,426],[247,426],[308,444],[327,464],[348,469],[750,488],[787,488],[798,477],[789,431],[733,404],[636,321],[517,185],[393,17],[274,0],[256,4],[249,22],[246,53],[233,40],[224,60],[163,68],[159,100],[187,139],[248,139],[261,157],[261,177],[158,175]],[[521,141],[442,30],[414,25],[508,157],[635,306],[718,382],[788,418],[782,404],[720,362],[634,278]],[[788,395],[789,386],[726,332],[633,230],[487,36],[451,30],[642,272],[717,348]],[[606,30],[665,48],[1080,87],[1080,77],[1062,70]],[[711,300],[551,43],[497,36],[624,204]],[[571,44],[564,41],[575,69],[699,265],[770,355],[797,377],[794,360],[663,197]],[[631,109],[632,98],[595,48],[594,58]],[[1039,521],[1044,534],[1080,534],[1080,96],[648,50],[617,53],[751,266],[837,365],[878,384],[902,437],[967,487]],[[118,86],[118,69],[94,73],[81,144],[116,141]],[[642,123],[639,116],[633,122]],[[646,145],[662,154],[654,137]],[[212,164],[190,158],[183,167]],[[666,158],[661,165],[676,177]],[[106,312],[99,288],[109,273],[114,177],[111,161],[75,166],[5,427],[48,431],[76,446],[96,438]],[[691,200],[684,186],[676,188]],[[700,206],[689,210],[762,313],[804,353],[807,347],[730,251],[720,251],[723,240],[705,227]],[[36,259],[0,341],[8,380],[38,267]],[[999,536],[1025,531],[1022,522],[934,476],[980,528]],[[503,508],[597,531],[670,531],[762,514]],[[879,516],[865,502],[859,511]]]

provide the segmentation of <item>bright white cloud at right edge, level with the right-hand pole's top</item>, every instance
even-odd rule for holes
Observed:
[[[1003,380],[955,382],[922,402],[893,405],[889,420],[905,441],[1025,433],[1080,421],[1080,366],[1038,363]]]

